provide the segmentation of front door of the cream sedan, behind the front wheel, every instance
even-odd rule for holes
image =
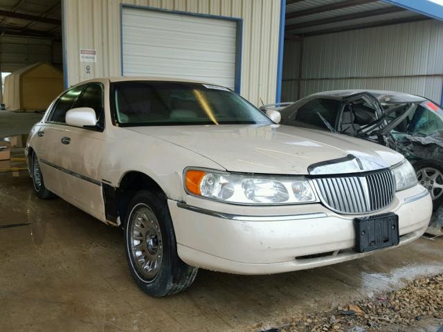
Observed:
[[[60,166],[69,170],[62,180],[66,201],[105,221],[101,176],[105,145],[103,98],[101,83],[85,86],[73,107],[91,107],[103,130],[66,126],[63,132],[65,144],[60,145]]]

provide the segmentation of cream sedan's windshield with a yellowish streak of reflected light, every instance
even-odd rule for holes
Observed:
[[[121,127],[273,123],[233,91],[210,84],[115,82],[111,104]]]

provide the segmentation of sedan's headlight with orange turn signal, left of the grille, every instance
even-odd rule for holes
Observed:
[[[309,181],[294,176],[260,176],[188,169],[188,194],[237,204],[296,204],[317,201]]]

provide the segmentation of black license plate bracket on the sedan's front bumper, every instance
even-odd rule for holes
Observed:
[[[354,228],[357,252],[369,252],[399,244],[399,216],[395,213],[356,218]]]

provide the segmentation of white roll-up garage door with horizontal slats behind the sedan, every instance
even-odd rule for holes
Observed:
[[[128,7],[122,20],[124,76],[235,88],[237,21]]]

